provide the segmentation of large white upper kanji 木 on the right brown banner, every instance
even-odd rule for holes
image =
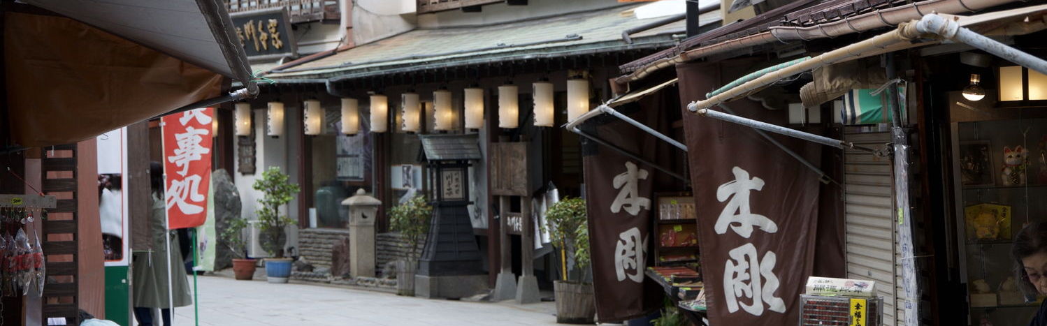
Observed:
[[[763,179],[749,178],[749,171],[735,166],[731,169],[734,172],[734,181],[725,183],[716,189],[716,200],[722,203],[728,199],[720,215],[716,218],[713,230],[716,234],[727,233],[727,228],[731,227],[735,233],[744,238],[753,234],[753,227],[760,227],[767,233],[778,232],[778,225],[774,220],[760,214],[753,214],[749,208],[749,192],[763,189]]]

